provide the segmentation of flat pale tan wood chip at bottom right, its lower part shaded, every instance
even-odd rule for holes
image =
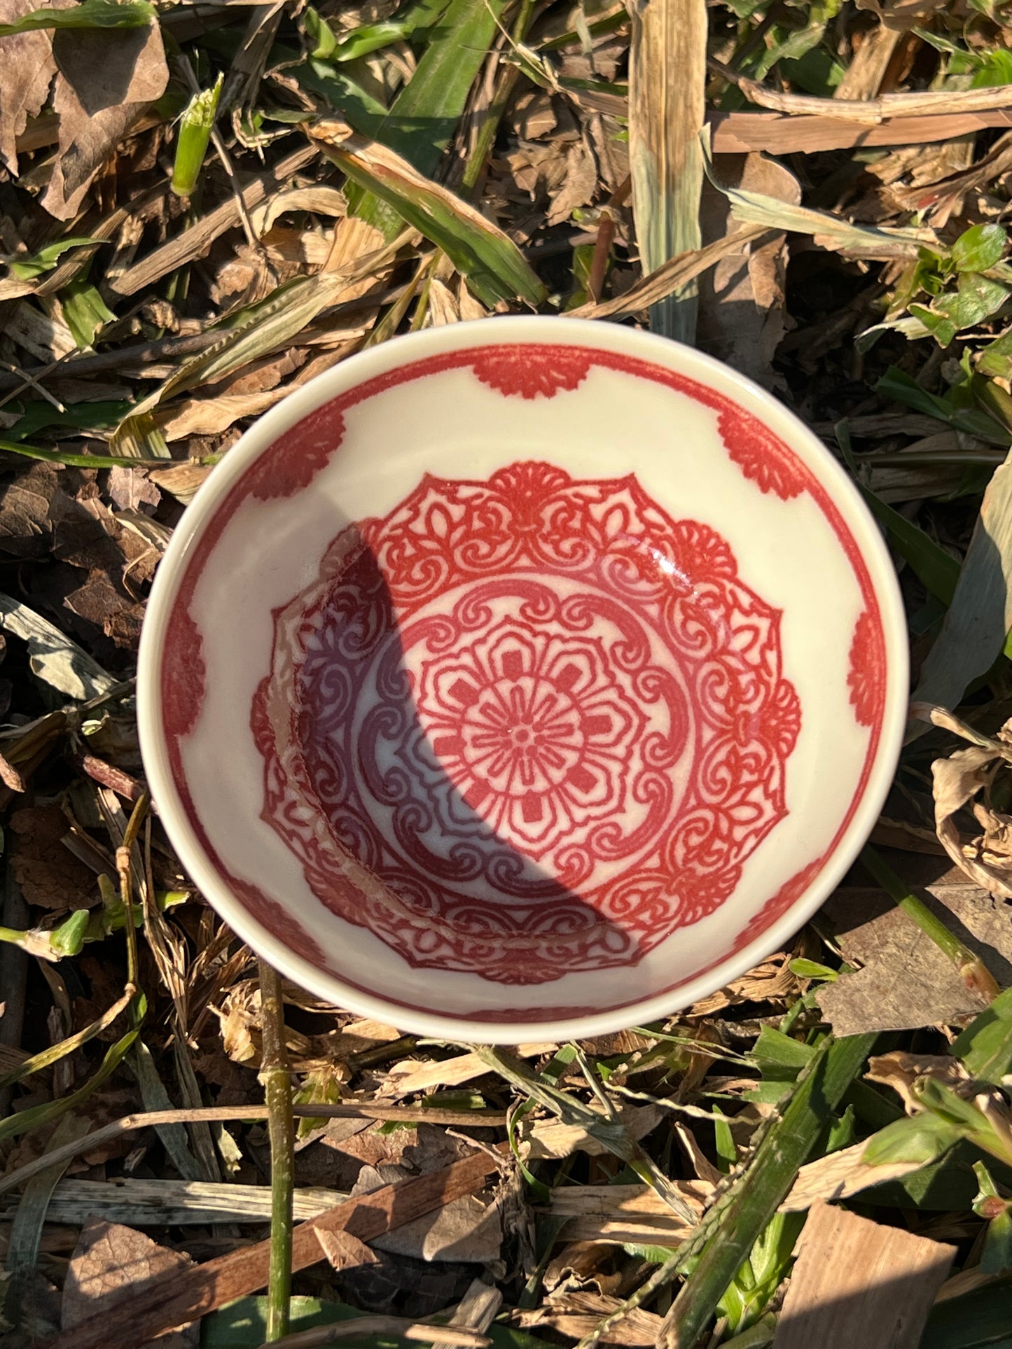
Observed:
[[[773,1349],[918,1349],[955,1246],[816,1205]]]

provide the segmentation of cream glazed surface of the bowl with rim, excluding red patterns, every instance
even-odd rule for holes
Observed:
[[[716,413],[660,384],[592,368],[576,390],[528,401],[505,398],[461,370],[401,383],[345,413],[340,449],[306,490],[275,500],[247,499],[240,506],[192,604],[204,634],[206,699],[184,746],[184,764],[204,827],[229,869],[282,901],[347,969],[354,985],[368,986],[363,993],[314,969],[285,946],[283,934],[256,923],[194,836],[161,730],[158,672],[166,622],[194,538],[281,432],[390,368],[483,343],[514,341],[569,343],[676,370],[734,398],[812,468],[866,560],[881,610],[889,683],[877,759],[845,836],[811,888],[754,942],[722,960],[764,902],[826,851],[861,776],[869,733],[854,720],[846,679],[862,600],[839,541],[810,495],[784,502],[742,473],[718,433]],[[784,611],[784,673],[800,696],[804,718],[788,764],[791,813],[749,857],[730,900],[661,942],[636,966],[517,987],[475,974],[413,969],[379,938],[324,909],[296,857],[260,820],[263,762],[250,733],[250,703],[270,668],[271,611],[316,579],[325,546],[344,525],[386,514],[425,472],[484,479],[525,459],[556,463],[575,478],[634,472],[675,519],[712,525],[730,544],[746,584]],[[387,464],[391,468],[383,471]],[[139,670],[142,749],[159,812],[194,881],[235,931],[291,979],[349,1009],[417,1033],[501,1043],[641,1024],[721,987],[776,950],[819,907],[870,830],[892,778],[905,699],[905,625],[892,564],[854,487],[811,432],[768,394],[688,348],[611,324],[560,318],[486,320],[480,326],[461,324],[398,339],[351,357],[260,418],[215,471],[173,536],[148,604]],[[707,967],[708,973],[698,973]],[[679,985],[675,992],[661,992],[673,985]],[[468,1020],[475,1008],[505,1012],[544,1005],[610,1010],[515,1025]]]

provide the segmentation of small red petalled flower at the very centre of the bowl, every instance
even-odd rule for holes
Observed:
[[[410,754],[455,832],[491,831],[537,858],[625,809],[645,718],[594,641],[503,619],[424,666],[418,712]]]

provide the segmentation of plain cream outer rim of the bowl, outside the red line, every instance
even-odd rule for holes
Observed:
[[[478,324],[483,326],[479,329]],[[270,928],[248,913],[206,857],[182,807],[169,765],[163,735],[161,665],[169,618],[192,548],[229,488],[243,476],[262,451],[277,441],[283,432],[302,421],[316,407],[367,379],[414,364],[426,356],[474,348],[475,345],[545,341],[551,341],[553,345],[618,352],[676,370],[683,375],[695,376],[700,383],[729,394],[780,434],[792,449],[806,451],[803,457],[822,484],[831,491],[835,505],[846,519],[868,568],[880,606],[887,669],[885,710],[878,747],[864,793],[843,836],[802,894],[779,919],[775,919],[739,951],[718,960],[708,970],[684,981],[673,990],[644,998],[640,1002],[630,1002],[623,1008],[540,1023],[482,1021],[407,1009],[398,1002],[386,1001],[379,994],[366,993],[347,985],[337,975],[317,969],[305,956],[296,954]],[[857,486],[800,418],[766,390],[731,367],[667,337],[600,320],[564,318],[563,316],[495,316],[409,333],[345,357],[337,366],[281,399],[273,409],[260,415],[228,451],[227,457],[216,465],[184,511],[158,565],[140,635],[136,685],[138,728],[151,795],[179,861],[198,890],[236,935],[281,974],[347,1010],[386,1021],[416,1035],[456,1041],[517,1044],[586,1039],[671,1016],[680,1008],[690,1006],[725,987],[753,969],[772,951],[780,950],[833,893],[854,862],[878,817],[893,780],[907,722],[907,621],[887,544]],[[432,971],[433,981],[439,973],[439,970]]]

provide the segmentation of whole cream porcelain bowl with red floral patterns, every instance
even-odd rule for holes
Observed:
[[[588,1036],[783,946],[907,700],[878,529],[775,398],[605,322],[352,356],[159,567],[139,704],[193,881],[285,975],[455,1040]]]

